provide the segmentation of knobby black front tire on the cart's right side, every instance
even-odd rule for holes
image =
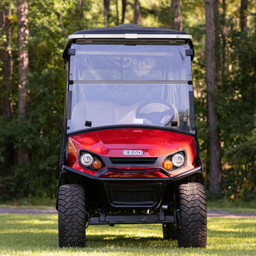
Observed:
[[[179,247],[206,248],[207,211],[205,190],[201,183],[179,186]]]

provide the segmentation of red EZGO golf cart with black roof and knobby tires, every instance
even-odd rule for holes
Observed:
[[[85,246],[89,225],[147,223],[179,247],[206,247],[191,39],[134,24],[67,38],[60,247]]]

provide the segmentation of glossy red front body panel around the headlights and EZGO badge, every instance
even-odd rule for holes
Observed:
[[[68,145],[69,167],[95,175],[96,172],[80,167],[78,157],[79,151],[82,149],[103,157],[129,157],[124,156],[124,150],[143,151],[143,155],[132,157],[165,157],[173,152],[183,150],[186,151],[186,165],[178,170],[173,170],[170,174],[175,176],[194,168],[195,146],[193,136],[173,131],[147,128],[115,128],[71,136]],[[125,168],[122,167],[122,169]],[[145,170],[145,173],[148,173],[148,171]],[[153,175],[157,176],[157,174]],[[112,174],[110,176],[112,177]]]

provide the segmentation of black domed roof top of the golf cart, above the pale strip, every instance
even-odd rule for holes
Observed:
[[[143,27],[136,24],[121,24],[109,28],[93,28],[84,31],[76,31],[73,34],[186,34],[183,31],[176,31],[169,28],[151,28]]]

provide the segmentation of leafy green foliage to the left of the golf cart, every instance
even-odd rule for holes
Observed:
[[[88,11],[89,5],[89,2],[83,5],[83,11]],[[13,116],[9,122],[0,126],[1,138],[8,137],[14,141],[15,156],[17,157],[18,148],[25,145],[30,160],[28,163],[18,165],[14,158],[9,177],[2,177],[5,184],[2,186],[9,190],[8,197],[22,197],[28,194],[53,196],[56,193],[65,88],[61,56],[66,35],[72,34],[78,28],[89,27],[86,18],[76,18],[76,22],[70,23],[76,15],[81,15],[81,11],[76,1],[30,2],[28,17],[30,74],[29,83],[26,85],[30,103],[26,114],[19,116],[16,68],[11,98]],[[14,53],[15,31],[14,27],[12,30]],[[15,58],[14,61],[14,66],[17,66],[17,59]],[[2,118],[0,121],[2,124],[6,122]],[[1,151],[5,151],[5,148],[0,147]]]

